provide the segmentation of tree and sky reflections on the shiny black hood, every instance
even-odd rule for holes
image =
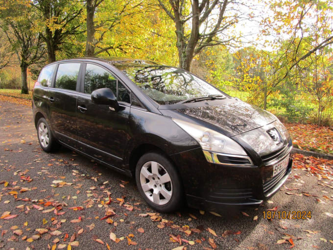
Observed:
[[[271,113],[238,99],[218,105],[176,109],[182,114],[220,127],[228,136],[235,136],[276,120]]]

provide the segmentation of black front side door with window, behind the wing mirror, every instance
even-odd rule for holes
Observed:
[[[77,98],[77,138],[79,150],[109,165],[121,168],[130,134],[128,117],[130,91],[109,70],[87,63],[83,66],[81,94]],[[119,102],[116,112],[109,105],[95,104],[91,93],[110,88]]]

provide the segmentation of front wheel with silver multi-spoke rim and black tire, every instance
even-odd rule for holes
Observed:
[[[159,152],[138,161],[135,179],[143,199],[159,212],[174,212],[183,205],[183,186],[173,164]]]

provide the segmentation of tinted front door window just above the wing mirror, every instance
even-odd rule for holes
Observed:
[[[84,93],[91,94],[95,89],[101,88],[109,88],[117,95],[117,79],[103,68],[87,64]]]

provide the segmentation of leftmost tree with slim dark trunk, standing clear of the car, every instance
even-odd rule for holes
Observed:
[[[22,94],[28,94],[27,68],[45,54],[42,34],[34,30],[36,18],[30,0],[7,0],[0,7],[0,28],[20,62]]]

